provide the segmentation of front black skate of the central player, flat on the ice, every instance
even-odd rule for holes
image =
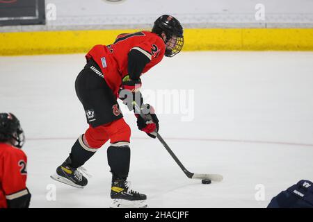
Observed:
[[[113,180],[111,187],[111,208],[145,208],[147,196],[134,191],[127,180]]]

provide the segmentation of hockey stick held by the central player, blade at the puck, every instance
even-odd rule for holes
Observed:
[[[145,114],[142,114],[141,113],[141,108],[139,108],[139,106],[134,103],[134,107],[136,109],[136,112],[138,114],[141,115],[141,117],[145,120],[147,119],[150,119],[150,117],[147,118],[147,115]],[[149,116],[150,114],[148,114]],[[151,118],[152,119],[152,118]],[[188,171],[186,169],[186,167],[184,167],[184,165],[182,164],[182,162],[179,161],[179,159],[177,158],[177,156],[175,155],[175,153],[172,152],[172,150],[170,149],[170,146],[168,146],[168,144],[166,144],[166,142],[164,141],[164,139],[161,137],[161,135],[157,132],[157,131],[154,131],[153,132],[154,135],[157,136],[157,138],[159,139],[159,141],[161,142],[161,144],[163,144],[164,148],[166,148],[166,150],[168,151],[168,153],[170,153],[170,155],[172,156],[172,158],[175,160],[175,162],[179,165],[179,167],[182,169],[182,171],[184,171],[184,173],[186,174],[186,176],[188,178],[191,178],[191,179],[200,179],[200,180],[203,180],[203,179],[209,179],[209,180],[212,180],[212,181],[217,181],[217,182],[220,182],[223,180],[223,176],[221,176],[220,174],[201,174],[201,173],[191,173],[190,171]]]

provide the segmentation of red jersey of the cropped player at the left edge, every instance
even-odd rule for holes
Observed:
[[[0,208],[7,207],[7,200],[28,194],[26,164],[22,150],[0,143]]]

